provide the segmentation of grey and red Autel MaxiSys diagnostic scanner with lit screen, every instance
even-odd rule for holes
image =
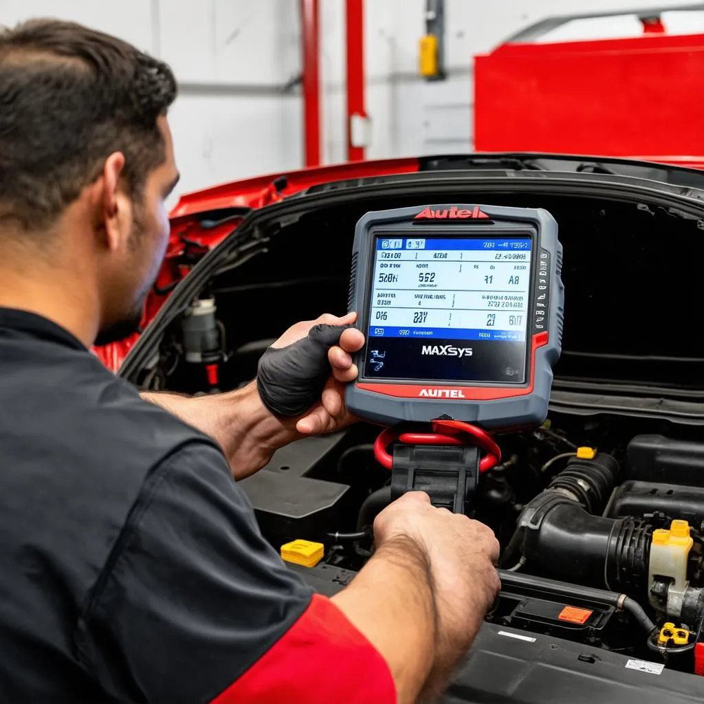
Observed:
[[[367,341],[348,409],[389,426],[540,425],[560,355],[561,265],[546,210],[449,203],[364,215],[348,303]]]

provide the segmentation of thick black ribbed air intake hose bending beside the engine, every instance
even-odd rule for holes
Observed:
[[[605,518],[618,476],[610,455],[573,458],[523,509],[511,543],[551,575],[609,589],[646,586],[652,528],[633,518]]]

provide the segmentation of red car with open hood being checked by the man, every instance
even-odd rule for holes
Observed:
[[[565,327],[549,421],[498,436],[503,464],[479,484],[476,516],[513,571],[446,701],[701,700],[704,172],[487,153],[317,168],[183,196],[144,332],[96,353],[142,389],[235,388],[291,323],[346,312],[361,215],[451,202],[553,215]],[[366,535],[334,534],[363,533],[389,501],[377,434],[360,423],[299,441],[242,482],[276,546],[325,543],[318,567],[291,567],[324,593],[373,549]],[[677,574],[663,556],[679,560]]]

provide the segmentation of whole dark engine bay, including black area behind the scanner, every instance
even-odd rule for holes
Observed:
[[[558,220],[565,331],[553,391],[570,402],[551,407],[537,429],[494,436],[503,459],[472,501],[472,517],[502,548],[501,594],[486,622],[528,640],[577,643],[585,658],[603,650],[704,674],[704,442],[696,414],[678,422],[664,412],[698,406],[704,360],[691,341],[673,348],[650,334],[663,315],[691,325],[687,306],[668,306],[652,282],[676,271],[690,280],[686,262],[658,259],[657,244],[666,230],[670,246],[704,249],[696,221],[654,203],[515,194],[491,202],[540,206]],[[344,312],[353,223],[374,206],[360,200],[264,228],[244,260],[223,263],[174,315],[133,381],[186,394],[248,383],[286,327]],[[375,515],[391,501],[391,473],[373,451],[378,434],[361,422],[296,441],[241,481],[272,545],[322,543],[322,560],[304,570],[329,583],[345,584],[370,558]]]

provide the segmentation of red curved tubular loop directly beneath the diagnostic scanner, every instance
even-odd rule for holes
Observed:
[[[501,449],[491,439],[491,436],[481,428],[461,420],[434,420],[431,423],[432,433],[406,433],[399,432],[397,428],[386,428],[374,444],[374,454],[382,467],[390,470],[394,464],[394,459],[386,451],[386,448],[394,441],[400,441],[407,445],[476,445],[486,452],[486,455],[479,461],[479,472],[486,472],[501,462]],[[470,435],[463,439],[461,434]]]

